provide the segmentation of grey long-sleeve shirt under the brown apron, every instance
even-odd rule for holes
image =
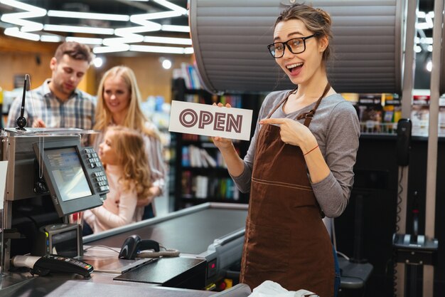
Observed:
[[[267,95],[259,110],[258,120],[266,118],[287,93],[289,90],[272,92]],[[289,114],[285,114],[281,106],[277,108],[271,118],[296,119],[300,113],[309,112],[315,104],[312,103]],[[304,123],[304,119],[300,122]],[[260,129],[261,126],[257,123],[249,150],[244,158],[244,171],[240,176],[232,177],[241,192],[250,191],[255,146]],[[331,170],[330,174],[321,182],[311,184],[313,193],[326,217],[338,217],[348,205],[350,190],[354,182],[353,166],[360,136],[357,112],[353,105],[340,94],[329,95],[321,100],[311,125],[309,125],[309,130],[316,137],[321,153]],[[291,168],[283,170],[291,170]]]

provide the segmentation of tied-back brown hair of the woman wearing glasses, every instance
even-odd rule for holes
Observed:
[[[282,21],[288,21],[290,19],[302,21],[309,31],[317,34],[316,38],[326,36],[329,41],[333,38],[331,16],[326,11],[323,11],[323,9],[314,9],[312,6],[307,6],[305,4],[293,4],[282,11],[275,22],[275,26]],[[330,43],[328,43],[326,50],[323,51],[323,62],[325,63],[331,56],[331,48],[329,44]]]

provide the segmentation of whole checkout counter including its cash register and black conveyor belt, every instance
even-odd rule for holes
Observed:
[[[82,238],[70,214],[101,205],[108,192],[96,152],[80,145],[83,133],[77,129],[1,130],[0,160],[8,161],[1,296],[242,297],[251,293],[244,284],[219,293],[204,290],[240,261],[247,205],[201,204]],[[133,234],[181,254],[118,259],[122,243]],[[41,259],[48,251],[73,255],[92,264],[95,271],[88,278],[60,272],[33,276],[28,268],[11,265],[16,263],[14,256]],[[33,271],[32,265],[28,267]]]

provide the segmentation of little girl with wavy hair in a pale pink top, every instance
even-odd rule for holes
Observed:
[[[99,156],[107,174],[109,193],[104,204],[84,213],[94,233],[138,222],[144,209],[138,199],[149,195],[150,170],[144,139],[136,130],[110,126],[99,146]]]

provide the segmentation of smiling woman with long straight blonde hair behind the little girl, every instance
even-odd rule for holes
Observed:
[[[145,143],[146,157],[151,172],[151,187],[145,199],[138,200],[138,207],[145,207],[143,219],[156,215],[155,197],[163,193],[166,168],[163,164],[162,145],[156,126],[142,113],[141,94],[136,75],[126,66],[115,66],[104,73],[97,90],[97,107],[94,130],[102,133],[92,137],[97,150],[109,126],[122,125],[141,132]]]

